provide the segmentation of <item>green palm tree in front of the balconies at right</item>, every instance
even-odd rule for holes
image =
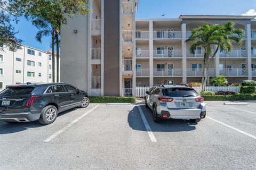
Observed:
[[[243,43],[244,30],[235,29],[234,22],[225,24],[209,25],[204,24],[195,28],[192,35],[186,40],[186,43],[193,42],[189,48],[191,54],[195,54],[195,48],[201,46],[205,49],[203,62],[202,91],[205,91],[207,80],[209,80],[210,64],[216,56],[218,50],[226,50],[230,53],[233,45],[231,40],[239,45]],[[213,50],[213,54],[212,54]]]

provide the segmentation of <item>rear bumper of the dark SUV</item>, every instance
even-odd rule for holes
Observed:
[[[37,121],[40,117],[40,113],[0,113],[0,121],[5,122],[30,122]]]

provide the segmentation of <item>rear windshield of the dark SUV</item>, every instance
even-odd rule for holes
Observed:
[[[1,96],[20,96],[20,95],[30,95],[34,90],[34,87],[8,87],[3,90]]]

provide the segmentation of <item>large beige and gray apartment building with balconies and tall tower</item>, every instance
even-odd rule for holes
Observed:
[[[94,0],[93,12],[62,28],[61,81],[92,96],[135,96],[136,87],[172,81],[201,81],[204,49],[185,43],[198,25],[234,21],[245,30],[242,46],[218,52],[210,77],[229,82],[256,79],[256,16],[181,15],[178,19],[135,19],[136,0]],[[255,42],[254,42],[255,41]]]

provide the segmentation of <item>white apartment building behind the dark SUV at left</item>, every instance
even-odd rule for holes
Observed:
[[[25,45],[17,52],[4,48],[0,51],[0,90],[26,82],[52,82],[52,55]]]

